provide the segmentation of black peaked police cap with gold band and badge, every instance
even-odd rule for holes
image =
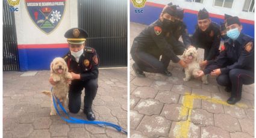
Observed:
[[[82,28],[71,28],[64,34],[69,44],[83,44],[88,37],[88,33]]]

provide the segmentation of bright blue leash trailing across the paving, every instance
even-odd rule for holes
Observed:
[[[52,89],[51,89],[51,92],[52,92]],[[60,105],[61,110],[63,110],[63,112],[66,114],[68,119],[64,118],[63,116],[60,115],[60,112],[58,112],[58,107],[56,105],[56,101],[55,101],[54,97],[55,97],[55,95],[52,93],[52,100],[54,102],[55,110],[58,113],[58,115],[61,117],[61,119],[63,119],[64,121],[69,122],[69,123],[73,123],[73,124],[92,124],[92,125],[98,125],[99,127],[109,126],[109,127],[116,128],[116,130],[119,131],[119,132],[123,132],[123,133],[127,134],[127,131],[123,130],[122,127],[120,127],[119,125],[116,125],[116,124],[112,124],[110,122],[87,121],[87,120],[77,119],[77,118],[73,118],[72,116],[69,116],[69,114],[67,114],[67,112],[64,109],[64,107],[61,105],[60,100],[58,100],[58,98],[55,97],[57,99],[58,105]]]

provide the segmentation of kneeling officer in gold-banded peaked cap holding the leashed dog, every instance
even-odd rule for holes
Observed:
[[[78,113],[81,107],[81,91],[85,88],[84,113],[89,121],[95,120],[92,103],[98,89],[99,58],[96,50],[86,46],[88,34],[82,28],[69,29],[64,37],[69,52],[64,56],[72,82],[69,87],[69,112]]]

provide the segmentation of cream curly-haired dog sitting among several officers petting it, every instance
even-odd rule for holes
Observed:
[[[195,47],[189,47],[183,53],[183,58],[187,61],[187,68],[185,68],[185,82],[189,81],[192,76],[197,76],[200,70],[198,51]],[[208,84],[207,76],[202,76],[202,82]]]

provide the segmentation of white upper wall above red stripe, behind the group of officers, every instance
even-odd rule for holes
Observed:
[[[254,20],[254,13],[242,11],[245,0],[234,0],[232,8],[213,6],[214,0],[204,0],[202,4],[197,2],[185,2],[185,0],[147,0],[147,2],[154,2],[164,5],[172,2],[172,4],[180,5],[180,7],[190,10],[199,11],[202,10],[202,8],[206,8],[209,13],[219,14],[222,16],[224,14],[229,14],[231,16],[238,16],[240,19]]]

